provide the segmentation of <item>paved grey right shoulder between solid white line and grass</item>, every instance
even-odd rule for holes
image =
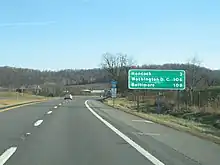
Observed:
[[[91,106],[97,111],[106,116],[111,117],[110,120],[117,120],[120,123],[126,124],[139,131],[139,133],[148,133],[146,136],[150,136],[157,142],[172,148],[173,150],[203,164],[217,165],[216,162],[220,161],[219,145],[210,141],[200,139],[185,132],[180,132],[159,124],[148,124],[141,122],[132,122],[134,120],[143,120],[143,118],[118,111],[112,107],[102,104],[98,101],[91,101]],[[160,136],[152,136],[150,133],[157,133]],[[145,139],[146,140],[146,139]],[[149,142],[149,139],[145,141]],[[149,144],[150,145],[150,144]],[[166,147],[164,147],[166,152]],[[211,154],[212,153],[212,154]]]

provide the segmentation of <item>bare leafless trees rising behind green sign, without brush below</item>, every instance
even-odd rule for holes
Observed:
[[[122,92],[128,90],[128,70],[132,67],[139,69],[185,70],[187,90],[191,92],[196,89],[204,89],[220,85],[220,70],[211,70],[201,67],[199,60],[195,57],[185,64],[138,66],[135,64],[134,60],[126,54],[114,55],[106,53],[103,55],[102,68],[108,73],[110,79],[118,81],[118,88]]]

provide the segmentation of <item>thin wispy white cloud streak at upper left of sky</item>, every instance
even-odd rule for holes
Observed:
[[[56,23],[55,21],[45,22],[15,22],[15,23],[0,23],[0,27],[16,27],[16,26],[45,26]]]

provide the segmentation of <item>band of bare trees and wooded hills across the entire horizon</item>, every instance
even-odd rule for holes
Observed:
[[[109,83],[111,80],[118,81],[119,93],[126,95],[128,90],[128,70],[135,66],[142,69],[183,69],[186,71],[187,94],[180,93],[180,98],[187,95],[187,104],[200,104],[195,101],[198,97],[203,98],[204,91],[210,87],[220,85],[220,70],[211,70],[201,67],[196,58],[192,58],[185,64],[164,64],[164,65],[136,65],[134,59],[126,54],[105,53],[102,56],[101,68],[88,70],[65,69],[60,71],[39,71],[27,68],[0,67],[0,87],[16,89],[23,87],[41,86],[43,93],[57,93],[71,85]],[[200,96],[195,96],[195,93]],[[211,92],[213,93],[213,92]],[[211,95],[211,94],[210,94]],[[184,102],[180,99],[180,102]],[[186,101],[185,101],[186,102]]]

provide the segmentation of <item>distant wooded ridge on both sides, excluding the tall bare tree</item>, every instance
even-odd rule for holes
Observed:
[[[212,82],[214,85],[220,85],[220,70],[211,70],[205,67],[199,67],[188,64],[164,64],[164,65],[143,65],[138,68],[143,69],[184,69],[187,73],[187,83],[191,83],[193,76],[196,79]],[[195,73],[194,73],[195,72]],[[193,74],[194,73],[194,74]],[[0,87],[19,88],[20,86],[54,84],[59,86],[72,86],[94,83],[109,83],[111,77],[108,72],[101,68],[88,70],[66,69],[60,71],[39,71],[27,68],[15,68],[4,66],[0,67]]]

